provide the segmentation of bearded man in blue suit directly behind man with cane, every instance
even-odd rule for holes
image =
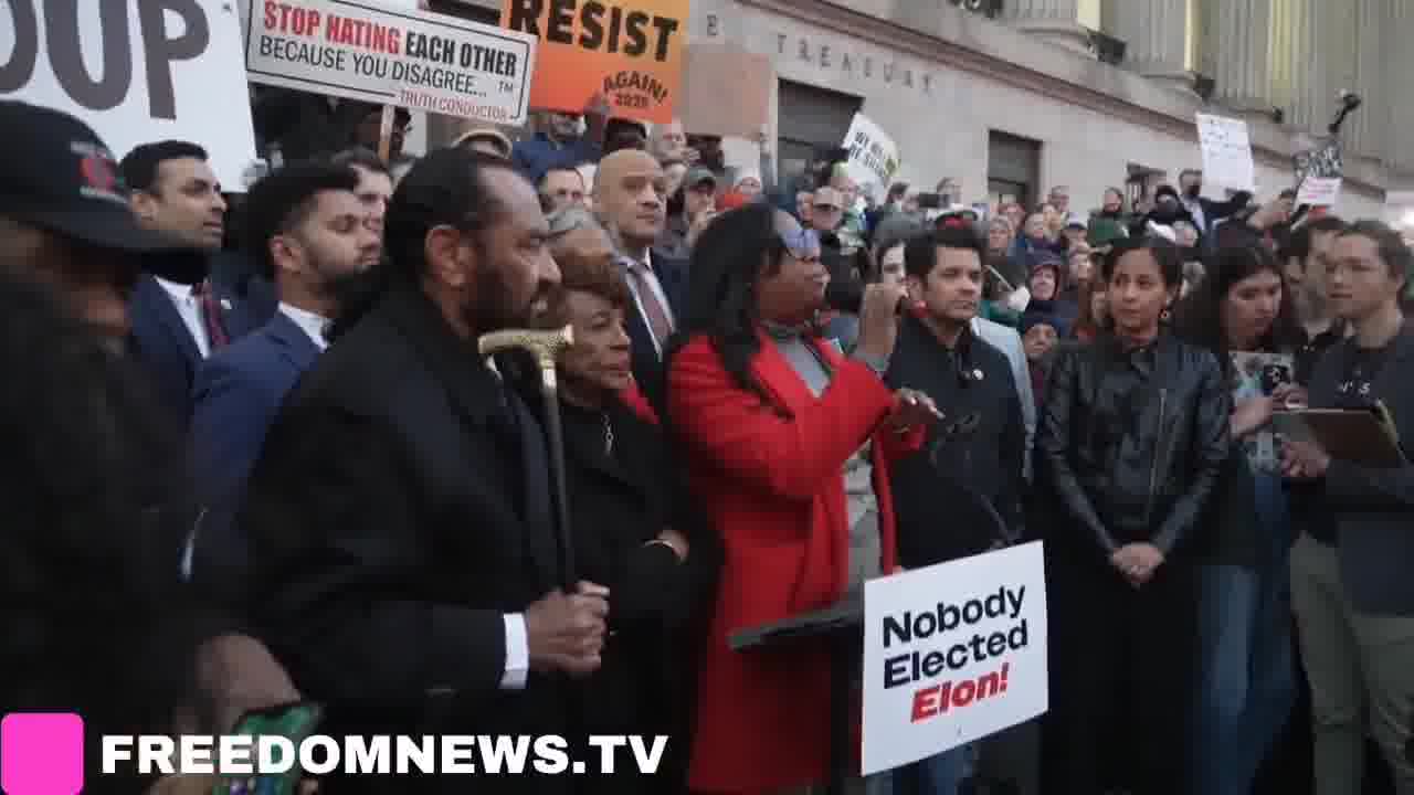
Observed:
[[[250,190],[249,250],[276,284],[280,304],[264,325],[214,352],[197,371],[192,478],[206,505],[197,569],[242,569],[239,529],[228,525],[266,430],[286,393],[325,348],[324,327],[341,296],[378,263],[379,224],[358,187],[359,175],[348,166],[300,163]],[[198,574],[208,583],[219,576]]]

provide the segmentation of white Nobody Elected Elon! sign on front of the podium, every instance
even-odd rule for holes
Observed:
[[[864,775],[1046,712],[1041,542],[864,584]]]

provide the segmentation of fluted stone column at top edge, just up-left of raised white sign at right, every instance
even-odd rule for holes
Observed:
[[[1107,3],[1106,27],[1124,41],[1124,66],[1145,78],[1192,92],[1188,59],[1189,0]]]

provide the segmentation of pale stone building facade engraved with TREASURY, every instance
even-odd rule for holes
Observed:
[[[966,202],[1066,185],[1086,209],[1106,187],[1138,194],[1199,167],[1193,115],[1210,112],[1247,119],[1268,197],[1346,89],[1365,105],[1342,132],[1338,212],[1379,215],[1387,190],[1414,184],[1414,137],[1397,133],[1414,120],[1398,78],[1414,74],[1414,0],[693,0],[689,34],[772,59],[783,173],[863,110],[898,141],[905,181],[954,178]],[[728,141],[740,164],[752,149]]]

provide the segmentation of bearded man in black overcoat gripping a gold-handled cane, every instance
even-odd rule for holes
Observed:
[[[481,335],[544,311],[559,282],[547,238],[510,163],[458,149],[420,160],[389,205],[379,294],[341,320],[270,427],[238,519],[257,622],[328,704],[321,733],[564,734],[563,678],[600,665],[608,593],[560,590],[539,420],[477,352]],[[324,787],[553,794],[568,781]]]

